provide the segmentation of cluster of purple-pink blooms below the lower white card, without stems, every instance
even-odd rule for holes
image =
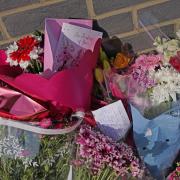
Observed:
[[[109,137],[95,132],[91,127],[83,125],[77,136],[79,156],[88,164],[88,168],[97,174],[108,166],[124,176],[132,173],[139,176],[143,170],[139,159],[134,156],[132,149],[125,143],[115,143]]]

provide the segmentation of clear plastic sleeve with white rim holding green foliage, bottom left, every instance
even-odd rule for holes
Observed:
[[[55,130],[0,118],[1,178],[67,179],[80,123],[81,119],[71,127]]]

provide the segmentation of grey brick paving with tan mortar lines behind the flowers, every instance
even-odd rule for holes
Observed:
[[[180,27],[180,0],[0,0],[0,48],[43,30],[46,17],[97,19],[110,36],[142,52],[159,32],[173,36]]]

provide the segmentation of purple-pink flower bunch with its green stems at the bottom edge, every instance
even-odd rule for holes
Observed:
[[[144,166],[124,142],[113,142],[109,137],[81,126],[76,138],[78,145],[76,177],[85,180],[90,174],[95,178],[115,179],[121,177],[142,178]],[[84,166],[82,171],[81,166]],[[79,168],[79,170],[78,170]],[[90,173],[90,174],[89,174]]]

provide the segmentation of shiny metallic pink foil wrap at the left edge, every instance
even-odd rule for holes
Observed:
[[[14,90],[0,87],[0,115],[16,120],[46,117],[49,111],[42,105]]]

